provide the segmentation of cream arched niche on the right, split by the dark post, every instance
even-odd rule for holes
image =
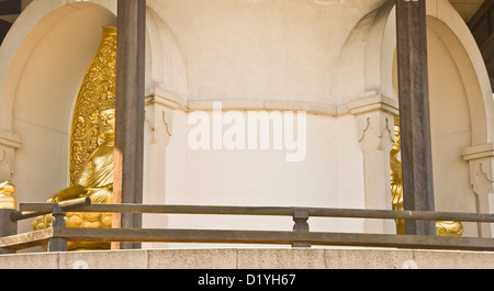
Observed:
[[[397,100],[394,1],[361,19],[339,58],[335,94],[345,104],[366,92]],[[485,64],[467,24],[446,0],[427,1],[429,89],[436,205],[475,212],[468,147],[492,144],[494,101]],[[348,79],[352,86],[348,86]],[[467,224],[465,235],[476,235]]]

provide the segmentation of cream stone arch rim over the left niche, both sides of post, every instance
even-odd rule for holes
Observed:
[[[116,0],[34,0],[19,16],[0,47],[0,128],[12,131],[12,111],[20,75],[46,33],[60,21],[83,10],[108,10],[116,15]],[[146,86],[187,96],[187,71],[175,36],[166,23],[147,9],[148,66]],[[116,19],[116,18],[115,18]],[[108,25],[116,25],[110,21]],[[106,25],[104,24],[104,25]],[[98,31],[98,33],[100,33]],[[94,45],[94,44],[93,44]]]

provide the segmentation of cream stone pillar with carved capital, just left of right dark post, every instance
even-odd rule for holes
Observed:
[[[394,116],[397,101],[368,92],[348,105],[357,116],[359,142],[363,152],[366,209],[391,210],[390,152],[395,141]],[[366,233],[396,233],[393,221],[366,220]]]

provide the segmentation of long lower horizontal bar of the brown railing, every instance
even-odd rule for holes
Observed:
[[[69,242],[221,243],[291,245],[307,242],[324,246],[395,247],[423,249],[494,250],[494,239],[417,235],[293,233],[267,231],[56,228],[54,237]]]

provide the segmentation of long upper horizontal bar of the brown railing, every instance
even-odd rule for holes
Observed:
[[[21,210],[48,210],[49,204],[23,204]],[[292,216],[296,210],[306,210],[315,217],[424,220],[494,223],[494,214],[430,211],[393,211],[322,208],[261,208],[261,206],[207,206],[207,205],[159,205],[159,204],[91,204],[76,208],[77,212],[109,213],[160,213],[160,214],[211,214],[211,215],[266,215]]]

